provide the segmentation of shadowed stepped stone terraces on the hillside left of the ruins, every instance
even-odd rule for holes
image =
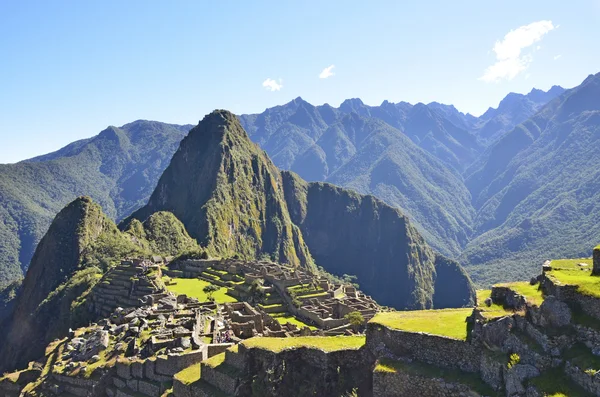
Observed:
[[[96,313],[108,317],[117,307],[139,307],[144,296],[159,292],[155,281],[144,273],[142,266],[128,261],[109,270],[92,292]]]

